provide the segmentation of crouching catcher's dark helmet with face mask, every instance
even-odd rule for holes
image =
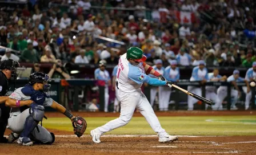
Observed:
[[[42,72],[34,72],[29,76],[29,85],[33,85],[35,83],[43,84],[43,92],[49,91],[51,84],[48,84],[49,76]]]

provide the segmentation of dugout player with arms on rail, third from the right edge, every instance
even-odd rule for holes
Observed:
[[[213,70],[213,73],[210,74],[209,76],[209,80],[208,81],[226,81],[227,76],[221,76],[219,75],[219,70],[217,68],[215,68]],[[205,97],[208,100],[213,101],[214,103],[218,102],[218,96],[217,96],[217,88],[216,86],[206,86],[205,87]],[[208,104],[205,104],[205,108],[208,108]]]

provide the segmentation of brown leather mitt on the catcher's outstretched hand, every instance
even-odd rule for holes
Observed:
[[[87,128],[85,119],[80,116],[75,116],[71,121],[74,127],[74,133],[77,135],[77,137],[81,137]]]

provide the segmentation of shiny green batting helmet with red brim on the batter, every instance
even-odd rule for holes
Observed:
[[[127,50],[126,58],[134,59],[136,62],[145,62],[147,57],[143,55],[143,51],[138,47],[130,47]]]

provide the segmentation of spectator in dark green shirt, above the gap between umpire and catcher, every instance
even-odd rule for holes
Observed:
[[[39,62],[37,50],[33,48],[33,43],[27,41],[27,48],[21,53],[21,60],[27,63]]]

